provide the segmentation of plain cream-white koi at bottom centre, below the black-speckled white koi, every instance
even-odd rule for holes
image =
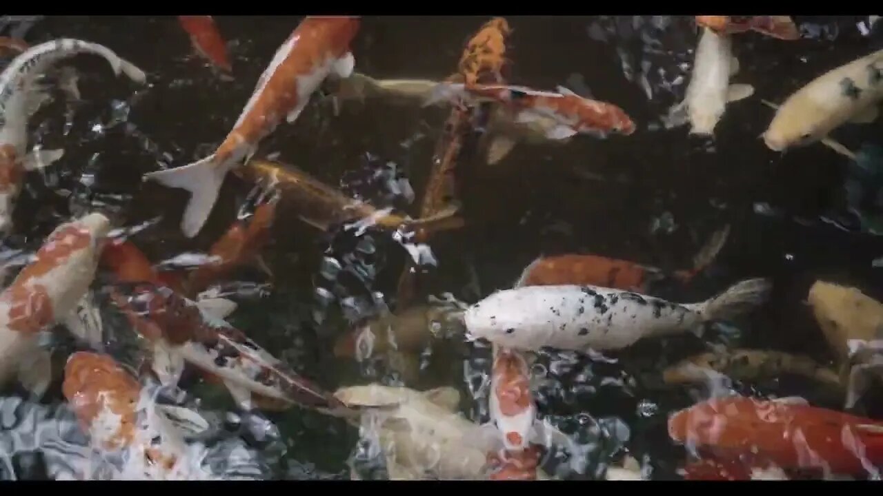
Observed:
[[[377,384],[342,387],[337,399],[353,406],[376,406],[363,421],[375,420],[381,449],[396,472],[441,479],[485,478],[487,447],[480,426],[456,412],[457,390],[418,392]]]

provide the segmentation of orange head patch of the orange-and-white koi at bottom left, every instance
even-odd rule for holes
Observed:
[[[118,416],[118,428],[100,440],[105,447],[118,449],[132,443],[140,385],[113,358],[87,351],[74,353],[64,365],[62,392],[86,431],[104,409]]]

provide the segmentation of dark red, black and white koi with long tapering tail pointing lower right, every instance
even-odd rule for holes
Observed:
[[[152,367],[162,384],[177,384],[185,364],[192,364],[222,380],[246,410],[252,408],[255,394],[337,417],[353,415],[334,396],[291,371],[219,317],[229,309],[217,312],[203,302],[149,283],[115,289],[115,303],[152,346]]]

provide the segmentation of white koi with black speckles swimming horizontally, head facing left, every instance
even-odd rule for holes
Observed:
[[[770,282],[738,282],[716,297],[677,304],[598,286],[504,289],[464,313],[469,334],[507,348],[621,349],[641,338],[683,333],[764,303]]]

